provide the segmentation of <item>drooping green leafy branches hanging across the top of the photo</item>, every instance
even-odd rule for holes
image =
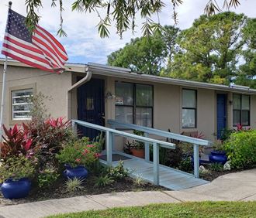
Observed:
[[[64,32],[62,23],[63,16],[62,12],[64,11],[63,0],[52,0],[52,7],[57,6],[57,2],[61,14],[61,28],[58,30],[57,34],[59,36],[67,36]],[[215,0],[206,1],[205,13],[207,15],[213,15],[215,12],[220,12],[220,6]],[[223,0],[223,8],[230,9],[230,7],[237,7],[240,5],[240,0]],[[175,20],[175,23],[178,22],[178,13],[176,8],[178,5],[185,4],[183,0],[171,0],[170,11],[172,13],[172,18]],[[38,9],[43,7],[42,0],[25,0],[26,5],[26,24],[29,26],[29,29],[32,31],[36,24],[40,20],[40,16],[37,15]],[[166,7],[164,1],[161,0],[151,0],[151,1],[140,1],[140,0],[74,0],[71,4],[72,10],[77,10],[78,12],[92,13],[95,12],[99,16],[99,35],[101,37],[109,37],[109,26],[116,26],[116,32],[119,36],[122,37],[123,32],[128,29],[132,29],[136,26],[136,18],[144,19],[142,23],[142,32],[144,36],[149,36],[153,32],[161,31],[161,24],[158,20],[155,22],[151,19],[152,15],[157,15]],[[101,11],[105,12],[100,13]]]

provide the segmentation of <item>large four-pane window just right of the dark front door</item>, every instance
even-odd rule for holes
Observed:
[[[153,87],[116,82],[116,121],[153,126]]]

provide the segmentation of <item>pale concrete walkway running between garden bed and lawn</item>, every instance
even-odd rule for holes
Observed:
[[[57,213],[108,209],[116,206],[143,206],[150,203],[182,203],[205,200],[256,200],[256,169],[223,175],[209,184],[182,191],[118,192],[2,206],[0,207],[0,217],[36,218]]]

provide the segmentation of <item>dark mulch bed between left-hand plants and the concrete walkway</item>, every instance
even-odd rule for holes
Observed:
[[[96,178],[97,177],[95,177],[95,175],[90,175],[88,179],[86,179],[86,181],[84,182],[84,189],[73,193],[67,192],[65,188],[65,180],[63,178],[58,179],[57,182],[55,182],[55,184],[53,186],[50,186],[50,188],[48,189],[33,187],[29,192],[29,196],[26,197],[26,199],[4,199],[0,192],[0,207],[47,199],[61,199],[74,196],[98,195],[102,193],[167,190],[164,187],[154,186],[148,182],[145,182],[143,185],[139,186],[131,178],[126,178],[121,181],[114,182],[106,187],[95,187]]]

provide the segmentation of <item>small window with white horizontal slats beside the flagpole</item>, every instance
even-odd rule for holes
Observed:
[[[31,102],[33,89],[12,90],[12,120],[30,119]]]

